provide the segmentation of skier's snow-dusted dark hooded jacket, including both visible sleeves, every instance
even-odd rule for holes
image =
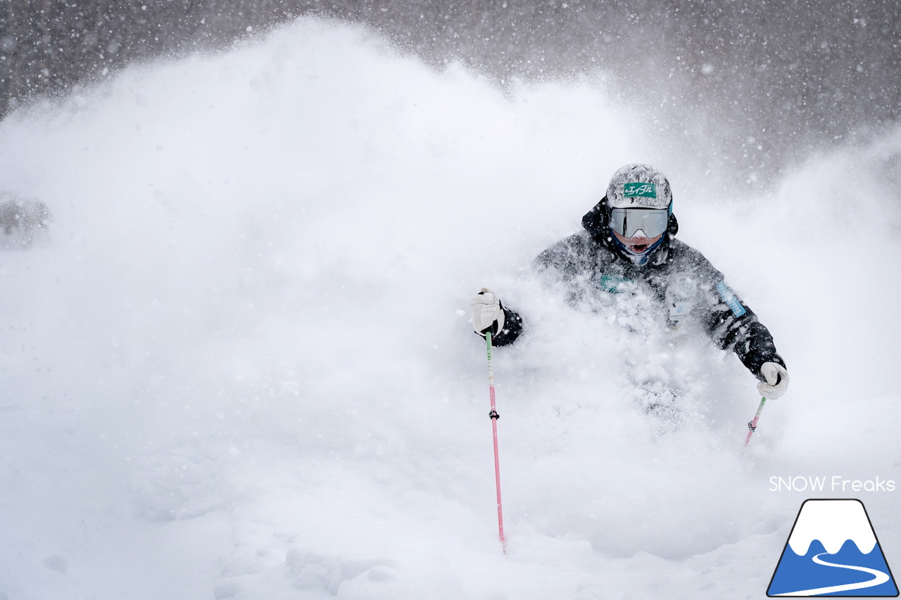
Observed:
[[[612,239],[608,223],[599,213],[605,204],[585,215],[583,232],[578,232],[544,250],[534,268],[567,289],[569,299],[578,301],[585,295],[629,293],[640,286],[651,295],[653,304],[664,311],[670,327],[689,315],[704,325],[714,344],[733,350],[742,364],[762,380],[760,366],[785,361],[778,355],[769,330],[729,286],[723,273],[704,255],[687,243],[675,239],[678,223],[670,216],[669,229],[663,243],[642,266],[635,266],[624,250]],[[633,292],[634,293],[634,292]],[[496,346],[511,344],[523,331],[519,314],[503,306],[504,330],[493,337]]]

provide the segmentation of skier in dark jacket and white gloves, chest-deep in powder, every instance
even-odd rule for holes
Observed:
[[[700,320],[714,344],[732,349],[760,380],[760,395],[775,400],[786,392],[788,372],[772,336],[726,286],[723,274],[676,239],[672,208],[667,177],[651,165],[626,165],[582,217],[584,231],[544,250],[534,267],[565,282],[573,300],[638,289],[651,296],[670,327],[689,317]],[[483,338],[491,332],[496,346],[513,343],[523,332],[520,315],[487,287],[472,299],[470,314],[475,332]]]

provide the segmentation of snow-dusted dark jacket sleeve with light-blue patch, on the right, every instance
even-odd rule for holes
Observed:
[[[760,367],[763,363],[776,362],[786,366],[785,360],[776,351],[769,330],[722,279],[710,290],[710,297],[713,307],[707,328],[717,346],[733,350],[751,374],[761,381]]]

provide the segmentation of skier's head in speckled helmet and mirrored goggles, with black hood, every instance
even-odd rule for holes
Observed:
[[[597,241],[642,267],[678,231],[669,180],[651,165],[619,168],[605,198],[582,223]]]

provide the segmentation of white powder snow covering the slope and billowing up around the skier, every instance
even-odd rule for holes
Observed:
[[[901,131],[743,197],[652,116],[306,20],[7,119],[0,183],[55,221],[0,235],[0,598],[760,598],[807,497],[859,497],[901,569],[901,492],[769,482],[901,486]],[[787,360],[749,452],[732,355],[528,270],[634,161]],[[480,286],[529,323],[495,352],[507,558]]]

